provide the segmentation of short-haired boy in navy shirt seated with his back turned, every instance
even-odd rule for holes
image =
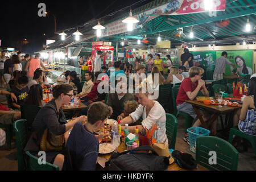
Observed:
[[[104,127],[110,109],[102,102],[93,103],[87,114],[88,122],[85,125],[76,123],[69,135],[65,148],[63,171],[95,171],[98,158],[98,140],[109,133],[94,135],[93,131]]]

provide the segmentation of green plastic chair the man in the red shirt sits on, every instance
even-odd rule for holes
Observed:
[[[174,105],[174,116],[177,117],[177,115],[182,115],[185,117],[185,133],[187,133],[187,129],[189,129],[192,126],[193,118],[187,114],[183,113],[177,110],[176,106],[176,98],[177,98],[177,93],[179,92],[180,85],[176,85],[172,87],[172,101]]]

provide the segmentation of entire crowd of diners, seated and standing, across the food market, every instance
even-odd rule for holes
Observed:
[[[121,61],[109,63],[108,67],[99,67],[97,59],[102,56],[104,56],[103,53],[98,53],[95,61],[92,60],[91,55],[88,61],[84,61],[82,57],[79,60],[80,67],[89,65],[89,71],[85,73],[84,85],[80,84],[81,80],[76,72],[66,71],[60,75],[57,82],[61,84],[53,86],[53,99],[47,104],[43,101],[42,86],[47,85],[48,82],[42,69],[39,68],[47,67],[40,61],[40,55],[37,54],[32,59],[24,56],[23,61],[20,61],[18,55],[13,55],[10,59],[11,64],[6,63],[8,60],[4,61],[4,66],[0,67],[4,70],[0,72],[0,76],[4,76],[2,85],[6,82],[7,86],[11,87],[11,92],[0,90],[0,94],[10,95],[12,108],[0,105],[0,121],[13,123],[19,119],[20,106],[23,104],[42,107],[32,123],[31,135],[24,151],[30,151],[35,156],[38,156],[41,150],[46,151],[46,161],[59,166],[60,170],[95,170],[99,150],[98,141],[109,133],[94,135],[93,131],[104,127],[104,123],[109,118],[120,119],[122,130],[126,124],[129,124],[131,133],[134,133],[137,128],[139,133],[146,133],[145,127],[151,129],[156,123],[160,130],[154,133],[153,137],[168,146],[170,141],[166,135],[166,111],[157,98],[155,100],[150,98],[159,92],[160,85],[168,83],[180,84],[175,101],[177,110],[188,113],[194,118],[192,127],[201,126],[192,105],[185,101],[195,100],[199,92],[209,96],[209,92],[205,81],[202,80],[204,69],[195,66],[193,56],[187,50],[181,56],[182,66],[180,67],[173,66],[170,56],[167,56],[167,78],[164,78],[164,65],[160,55],[155,55],[155,60],[153,55],[148,55],[148,67],[138,64],[135,69],[129,63],[123,64]],[[225,53],[223,56],[225,58]],[[150,74],[143,77],[146,71]],[[216,74],[216,77],[221,77],[218,72]],[[158,77],[155,77],[156,75]],[[122,82],[127,76],[129,76],[128,81],[133,82],[133,89],[137,89],[138,92],[127,92],[129,88]],[[156,78],[158,80],[155,80]],[[107,90],[119,84],[121,92],[115,90],[114,93],[108,93],[106,97],[107,93],[99,92],[98,86],[101,82],[114,82],[114,85],[110,85]],[[239,126],[243,132],[251,135],[256,135],[255,125],[247,127],[248,122],[255,123],[255,86],[256,78],[251,78],[249,94],[245,98],[242,109],[238,110],[234,117],[234,126]],[[150,92],[152,90],[153,92]],[[74,96],[80,98],[88,107],[81,110],[76,119],[67,122],[62,106],[69,105]],[[211,113],[204,110],[200,112],[204,121],[208,122]],[[138,122],[140,118],[142,122]],[[86,123],[83,125],[84,122]],[[69,134],[70,129],[72,131]],[[212,123],[210,130],[211,135],[216,136],[217,120]],[[49,134],[55,138],[59,136],[62,142],[55,150],[50,150],[44,144]],[[183,139],[189,144],[188,134],[185,134]]]

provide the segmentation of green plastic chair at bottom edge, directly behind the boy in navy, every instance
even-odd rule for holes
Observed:
[[[36,158],[36,156],[30,154],[29,151],[26,151],[26,158],[27,158],[28,171],[60,171],[58,166],[51,164],[51,163],[46,162],[46,165],[38,164],[38,158]]]

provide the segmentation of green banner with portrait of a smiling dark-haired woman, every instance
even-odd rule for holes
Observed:
[[[223,51],[217,51],[216,57],[221,57]],[[226,57],[231,63],[237,66],[237,71],[240,75],[253,74],[253,51],[226,51],[228,57]],[[225,76],[232,76],[233,67],[226,65]]]

